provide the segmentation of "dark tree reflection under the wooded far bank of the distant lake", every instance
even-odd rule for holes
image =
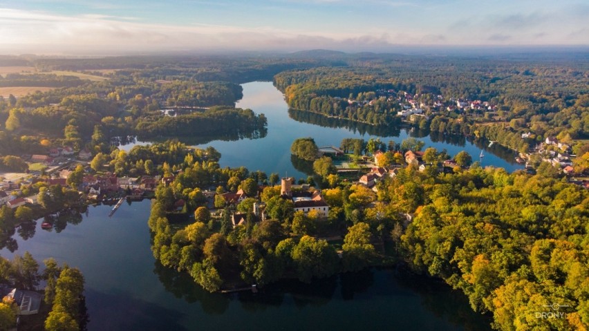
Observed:
[[[317,113],[309,111],[299,111],[296,109],[289,109],[288,116],[295,121],[315,124],[327,128],[343,128],[359,133],[361,135],[377,135],[380,137],[398,137],[400,134],[400,127],[398,126],[374,126],[362,122],[354,122],[345,119],[326,117]]]

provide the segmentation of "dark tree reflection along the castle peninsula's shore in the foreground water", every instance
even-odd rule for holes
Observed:
[[[259,293],[250,291],[232,294],[209,293],[198,286],[185,272],[163,267],[156,261],[153,269],[162,285],[178,299],[188,303],[200,303],[207,314],[224,314],[232,301],[241,304],[247,312],[263,312],[270,308],[294,304],[297,309],[318,308],[339,300],[337,292],[344,301],[360,300],[371,296],[418,295],[420,305],[432,312],[438,319],[449,321],[464,330],[490,330],[490,320],[473,312],[467,298],[460,292],[432,278],[418,276],[409,272],[391,269],[366,269],[361,272],[344,273],[329,278],[314,280],[310,284],[296,279],[286,279],[266,285]],[[375,278],[380,281],[375,281]],[[287,299],[288,298],[288,299]],[[285,307],[285,309],[289,309]],[[383,308],[386,311],[386,308]],[[335,315],[334,315],[335,316]],[[361,318],[361,317],[359,317]],[[413,316],[420,318],[420,316]],[[372,321],[381,325],[382,321]],[[269,322],[270,323],[270,322]],[[344,322],[342,322],[344,323]],[[319,323],[321,324],[321,323]]]

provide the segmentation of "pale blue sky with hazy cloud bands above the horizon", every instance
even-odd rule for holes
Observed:
[[[0,54],[589,46],[587,0],[0,0]]]

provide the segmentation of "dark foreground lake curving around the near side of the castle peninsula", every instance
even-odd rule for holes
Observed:
[[[460,292],[394,269],[283,281],[257,294],[210,294],[156,263],[149,206],[124,203],[110,218],[111,207],[90,206],[81,223],[59,233],[37,221],[32,238],[15,235],[15,254],[53,256],[82,270],[88,330],[490,330]]]

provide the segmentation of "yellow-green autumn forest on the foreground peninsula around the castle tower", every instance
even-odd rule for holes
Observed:
[[[355,143],[345,140],[342,147],[353,149]],[[416,143],[408,140],[399,147],[419,149],[409,146]],[[292,153],[310,156],[312,145],[310,138],[299,139]],[[433,148],[424,154],[428,160],[441,156]],[[582,330],[589,322],[589,193],[577,185],[542,174],[476,164],[467,168],[470,162],[460,161],[458,153],[455,159],[463,165],[450,173],[409,166],[379,182],[377,193],[330,178],[323,190],[329,215],[321,220],[310,212],[293,212],[292,202],[272,186],[277,176],[220,169],[215,162],[193,158],[194,165],[183,162],[183,174],[156,190],[149,226],[153,254],[162,265],[188,272],[206,290],[263,286],[285,277],[308,282],[406,263],[414,272],[442,278],[464,292],[473,310],[492,314],[498,330],[546,325]],[[201,193],[210,185],[217,186],[218,194],[243,189],[250,196],[258,185],[268,186],[259,198],[236,205],[215,199],[223,211],[213,217],[203,207]],[[178,199],[189,202],[191,207],[181,213],[194,211],[194,222],[178,223]],[[261,222],[251,212],[257,199],[268,211]],[[235,211],[247,215],[243,225],[232,225]],[[341,247],[322,238],[334,233],[342,234]],[[383,243],[398,249],[382,250]],[[566,319],[534,318],[543,305],[555,302],[570,307]]]

